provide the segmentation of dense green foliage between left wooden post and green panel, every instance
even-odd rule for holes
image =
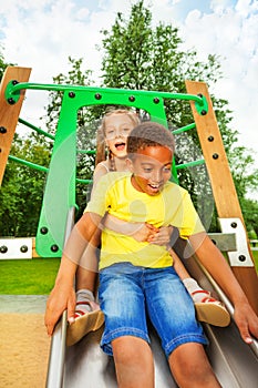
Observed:
[[[39,135],[21,139],[17,134],[11,154],[48,167],[50,145]],[[1,236],[33,236],[43,196],[45,173],[10,161],[0,191]]]

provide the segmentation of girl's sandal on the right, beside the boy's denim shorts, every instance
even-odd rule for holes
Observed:
[[[210,296],[207,290],[196,290],[195,294],[206,294],[200,302],[195,303],[197,319],[209,325],[226,327],[230,323],[230,315],[224,305]]]

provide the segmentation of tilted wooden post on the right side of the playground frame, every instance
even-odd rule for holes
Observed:
[[[189,94],[203,94],[208,102],[208,112],[205,115],[200,115],[196,111],[194,102],[192,102],[190,105],[203,149],[203,155],[210,178],[218,216],[220,218],[239,218],[245,227],[236,187],[230,173],[227,155],[224,149],[223,139],[218,129],[207,85],[204,82],[186,81],[186,90]],[[247,239],[246,229],[245,234]],[[254,262],[249,244],[247,245],[249,255]],[[247,295],[250,305],[255,309],[256,314],[258,314],[258,278],[255,266],[245,266],[244,264],[233,266],[231,269]]]

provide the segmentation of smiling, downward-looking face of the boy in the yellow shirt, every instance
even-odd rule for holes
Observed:
[[[147,146],[128,160],[132,185],[138,192],[157,195],[171,177],[173,152],[166,146]]]

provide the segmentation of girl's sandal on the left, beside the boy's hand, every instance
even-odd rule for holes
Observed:
[[[66,346],[76,344],[86,334],[99,330],[104,324],[104,314],[95,302],[78,302],[76,307],[80,305],[87,305],[90,312],[75,309],[75,321],[68,327]]]

